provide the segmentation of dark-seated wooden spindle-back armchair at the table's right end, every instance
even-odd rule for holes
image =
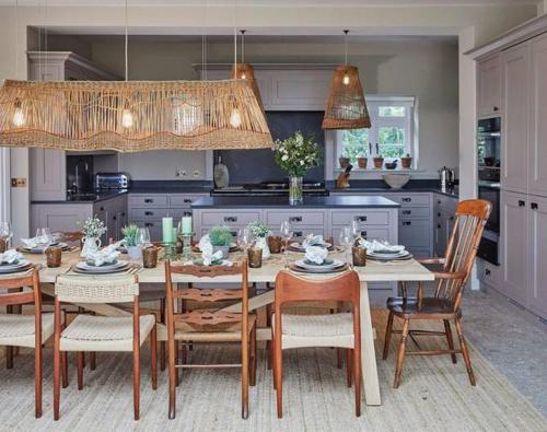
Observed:
[[[490,215],[491,203],[486,200],[472,199],[461,201],[456,209],[456,220],[446,247],[445,258],[421,259],[420,262],[435,275],[437,288],[433,296],[423,296],[423,285],[418,284],[416,297],[408,297],[406,284],[403,283],[403,297],[387,300],[387,327],[385,334],[383,359],[387,359],[392,334],[400,334],[397,364],[393,386],[400,383],[405,355],[437,355],[451,354],[452,362],[456,363],[456,354],[464,358],[469,382],[475,385],[469,352],[462,330],[462,296],[472,273],[478,245],[485,224]],[[403,329],[394,330],[394,317],[403,319]],[[444,323],[444,331],[411,330],[412,319],[439,319]],[[459,349],[454,348],[450,320],[454,320],[458,337]],[[449,345],[447,350],[421,350],[415,336],[444,336]],[[406,351],[407,339],[410,337],[418,346],[418,351]]]

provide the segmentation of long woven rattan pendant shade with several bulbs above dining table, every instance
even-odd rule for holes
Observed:
[[[5,81],[0,145],[63,150],[271,148],[246,80]]]

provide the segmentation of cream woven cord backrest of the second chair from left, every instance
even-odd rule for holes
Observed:
[[[129,303],[139,295],[136,276],[82,277],[61,275],[55,283],[55,295],[60,302]]]

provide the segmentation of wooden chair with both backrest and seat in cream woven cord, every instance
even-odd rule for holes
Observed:
[[[61,302],[70,303],[132,303],[132,316],[96,316],[79,314],[61,329]],[[78,389],[83,387],[83,353],[132,352],[133,411],[140,415],[140,347],[150,336],[152,388],[158,388],[155,317],[140,315],[139,283],[135,276],[84,278],[59,276],[55,284],[54,345],[54,418],[59,419],[60,354],[75,351],[78,358]]]

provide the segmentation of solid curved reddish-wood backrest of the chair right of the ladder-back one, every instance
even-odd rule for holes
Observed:
[[[350,302],[359,308],[360,282],[356,271],[346,271],[336,278],[304,279],[289,271],[276,278],[276,311],[284,303],[337,301]]]

